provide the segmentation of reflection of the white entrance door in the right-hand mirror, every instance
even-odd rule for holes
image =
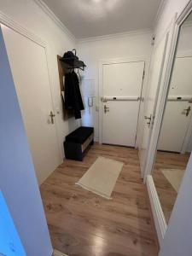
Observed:
[[[192,112],[192,103],[185,100],[186,98],[192,98],[191,67],[191,56],[176,58],[165,116],[160,130],[158,143],[158,149],[160,150],[181,152],[183,149]],[[185,101],[181,102],[181,100],[177,100],[177,97]],[[188,109],[188,111],[185,109]]]

